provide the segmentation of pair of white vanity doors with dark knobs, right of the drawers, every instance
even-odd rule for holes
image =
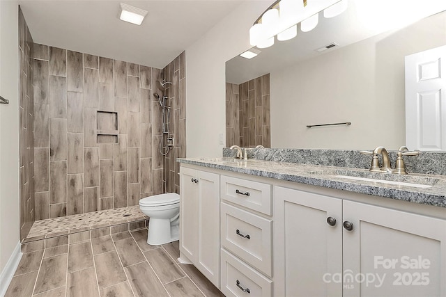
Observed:
[[[446,220],[274,193],[275,296],[446,296]]]

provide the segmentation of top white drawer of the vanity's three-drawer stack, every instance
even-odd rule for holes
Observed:
[[[222,175],[222,199],[272,215],[271,185]]]

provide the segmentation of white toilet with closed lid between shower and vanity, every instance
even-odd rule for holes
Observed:
[[[178,240],[180,195],[165,193],[139,200],[139,209],[149,217],[147,243],[157,246]]]

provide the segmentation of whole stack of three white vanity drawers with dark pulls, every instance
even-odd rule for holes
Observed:
[[[225,296],[272,295],[272,186],[222,175],[222,286]]]

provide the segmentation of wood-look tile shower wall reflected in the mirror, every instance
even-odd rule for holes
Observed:
[[[226,147],[271,147],[270,74],[226,83]]]

